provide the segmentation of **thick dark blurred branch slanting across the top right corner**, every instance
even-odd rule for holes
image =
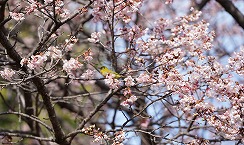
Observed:
[[[231,16],[236,20],[236,22],[244,29],[244,16],[235,7],[235,5],[229,0],[216,0]]]

